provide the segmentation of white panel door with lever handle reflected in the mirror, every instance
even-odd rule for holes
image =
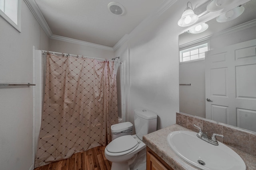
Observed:
[[[256,131],[256,39],[206,52],[206,118]]]

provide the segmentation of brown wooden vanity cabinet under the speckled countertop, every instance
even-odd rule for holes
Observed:
[[[154,151],[147,147],[147,170],[173,170]]]

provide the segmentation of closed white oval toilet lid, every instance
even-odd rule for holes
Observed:
[[[108,152],[120,153],[128,150],[136,149],[138,147],[138,142],[132,137],[132,135],[125,135],[114,139],[107,146]]]

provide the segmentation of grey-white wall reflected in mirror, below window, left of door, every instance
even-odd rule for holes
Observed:
[[[180,64],[180,112],[205,118],[204,60]]]

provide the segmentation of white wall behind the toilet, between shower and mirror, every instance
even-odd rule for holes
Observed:
[[[179,111],[178,35],[182,31],[177,21],[184,10],[176,13],[176,9],[180,9],[178,2],[161,16],[141,23],[118,51],[124,54],[120,55],[121,61],[128,61],[127,121],[134,123],[134,109],[145,108],[157,113],[158,129],[176,123]]]

